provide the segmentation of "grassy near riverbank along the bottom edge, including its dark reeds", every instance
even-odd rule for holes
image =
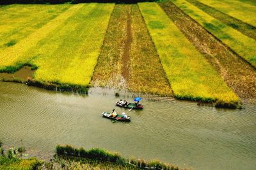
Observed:
[[[93,148],[77,149],[72,146],[56,146],[56,155],[50,162],[42,162],[37,158],[22,158],[25,148],[11,148],[4,154],[0,141],[0,169],[172,169],[179,167],[164,164],[158,160],[147,162],[143,159],[126,159],[118,153]]]

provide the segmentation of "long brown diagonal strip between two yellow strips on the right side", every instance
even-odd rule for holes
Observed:
[[[240,98],[256,100],[256,72],[252,66],[232,53],[173,3],[165,2],[159,5]]]

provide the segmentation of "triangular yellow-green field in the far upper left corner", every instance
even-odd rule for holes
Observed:
[[[0,52],[31,35],[71,5],[12,4],[0,10]]]

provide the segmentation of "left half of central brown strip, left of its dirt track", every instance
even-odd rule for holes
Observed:
[[[104,43],[95,66],[92,86],[125,88],[122,77],[122,56],[127,39],[127,10],[129,6],[116,4],[109,20]]]

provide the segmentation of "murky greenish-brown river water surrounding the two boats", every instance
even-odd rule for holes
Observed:
[[[125,99],[132,101],[129,96]],[[71,144],[124,157],[157,158],[179,167],[255,169],[256,105],[216,109],[144,97],[145,109],[129,112],[130,123],[102,118],[119,98],[104,89],[78,95],[0,82],[0,139],[45,159],[56,144]]]

